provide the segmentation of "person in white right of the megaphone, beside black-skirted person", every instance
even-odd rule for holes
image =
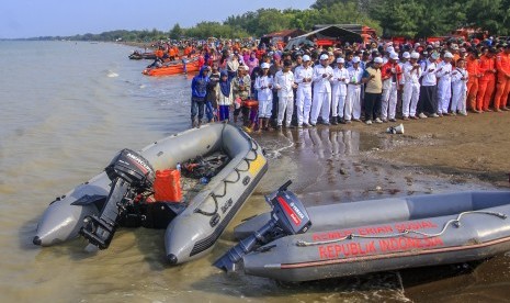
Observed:
[[[404,65],[404,93],[403,93],[403,119],[409,120],[409,116],[416,119],[416,106],[420,98],[421,66],[418,64],[420,54],[411,53],[410,60]]]

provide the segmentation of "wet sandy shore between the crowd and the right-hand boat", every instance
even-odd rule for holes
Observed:
[[[386,133],[387,127],[400,123],[405,134]],[[509,188],[510,112],[398,120],[370,126],[352,123],[284,128],[254,138],[270,157],[277,153],[293,159],[276,169],[297,166],[295,171],[290,169],[297,178],[295,188],[305,195],[319,192],[314,203],[451,191],[456,187]],[[265,176],[268,179],[271,177]]]

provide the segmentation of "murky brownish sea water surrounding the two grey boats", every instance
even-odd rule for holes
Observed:
[[[303,284],[225,274],[212,263],[234,244],[235,224],[211,256],[179,267],[165,260],[163,231],[121,229],[98,255],[84,252],[82,239],[34,246],[37,222],[55,197],[101,172],[122,148],[139,149],[189,127],[190,78],[143,76],[149,61],[127,59],[132,50],[0,42],[1,302],[460,302],[508,294],[505,256],[476,270],[441,268],[430,281],[423,272],[431,269]],[[293,130],[259,141],[270,173],[235,223],[267,211],[262,193],[286,179],[308,204],[477,187],[361,162],[360,153],[385,142],[354,131]],[[367,190],[378,184],[384,194]]]

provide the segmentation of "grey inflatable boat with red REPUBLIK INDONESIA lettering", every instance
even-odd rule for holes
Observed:
[[[243,255],[245,272],[308,281],[480,260],[510,250],[508,191],[370,200],[307,212],[306,233],[280,236]],[[248,220],[235,235],[257,233],[272,217]]]

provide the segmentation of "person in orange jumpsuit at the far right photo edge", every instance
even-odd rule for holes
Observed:
[[[496,83],[496,96],[494,98],[494,110],[496,112],[508,111],[507,100],[510,92],[510,45],[505,46],[505,52],[496,56],[496,69],[498,79]]]

